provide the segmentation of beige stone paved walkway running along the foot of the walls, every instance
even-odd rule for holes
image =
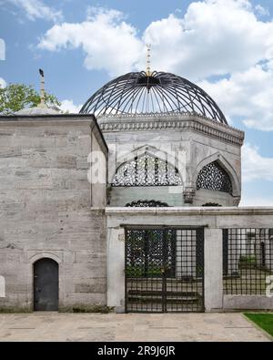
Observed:
[[[0,341],[269,341],[241,314],[0,314]]]

